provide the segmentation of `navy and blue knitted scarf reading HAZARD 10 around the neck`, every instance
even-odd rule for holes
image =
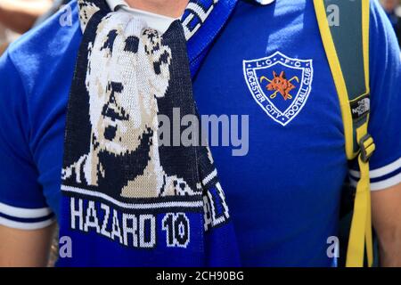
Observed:
[[[191,75],[235,3],[190,1],[161,35],[105,1],[78,0],[83,38],[67,111],[58,265],[239,265],[199,127],[190,145],[160,143],[175,135],[160,128],[177,110],[199,118]]]

